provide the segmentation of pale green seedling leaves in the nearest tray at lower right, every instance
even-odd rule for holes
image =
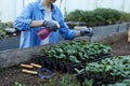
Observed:
[[[77,72],[81,73],[82,70]],[[87,73],[102,73],[104,77],[107,73],[112,76],[130,77],[130,56],[110,57],[98,62],[87,63],[84,70]]]

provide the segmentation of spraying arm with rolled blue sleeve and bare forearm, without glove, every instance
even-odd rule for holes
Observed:
[[[43,20],[34,20],[34,8],[37,8],[35,3],[29,3],[22,13],[14,20],[14,28],[26,31],[34,27],[42,26]]]

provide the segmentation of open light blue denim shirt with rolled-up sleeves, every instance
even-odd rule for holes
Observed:
[[[27,4],[21,15],[16,17],[13,26],[15,29],[21,30],[20,48],[40,45],[40,39],[37,35],[37,31],[41,27],[30,28],[30,23],[31,20],[42,20],[43,18],[44,8],[40,0]],[[56,32],[51,32],[49,43],[58,42],[58,33],[61,33],[65,40],[73,40],[75,38],[76,30],[70,30],[66,26],[60,9],[54,4],[52,4],[52,18],[60,24],[61,28]]]

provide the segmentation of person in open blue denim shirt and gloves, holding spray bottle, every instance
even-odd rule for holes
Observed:
[[[20,48],[58,42],[58,33],[65,40],[73,40],[79,35],[92,35],[92,29],[83,31],[70,30],[64,23],[60,9],[53,3],[56,0],[37,0],[29,3],[14,20],[14,28],[21,30]],[[49,35],[40,40],[38,32],[46,28]],[[42,43],[41,43],[42,42]]]

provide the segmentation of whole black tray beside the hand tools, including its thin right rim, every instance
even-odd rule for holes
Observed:
[[[99,61],[101,59],[108,58],[109,56],[112,56],[112,54],[105,54],[98,59],[81,61],[81,63],[66,62],[56,59],[50,59],[46,56],[39,56],[38,62],[50,70],[75,73],[75,68],[82,69],[86,66],[86,62]]]

